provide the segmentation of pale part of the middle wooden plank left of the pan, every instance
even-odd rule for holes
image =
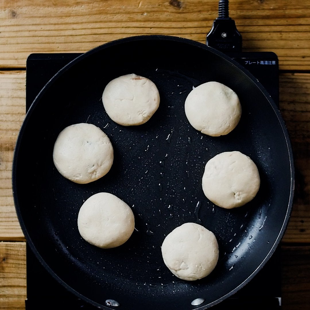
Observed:
[[[25,72],[0,71],[0,240],[24,240],[16,216],[11,174],[13,150],[25,116]]]

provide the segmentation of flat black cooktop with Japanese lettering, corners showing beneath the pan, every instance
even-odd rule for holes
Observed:
[[[26,68],[26,109],[42,87],[58,70],[80,54],[31,54]],[[240,52],[229,54],[249,70],[278,104],[278,59],[272,52]],[[212,309],[281,309],[281,266],[278,249],[261,271],[241,290]],[[43,268],[27,246],[26,310],[32,309],[95,309],[61,286]],[[119,308],[113,307],[111,308]],[[194,307],[193,307],[194,308]],[[147,310],[147,309],[146,309]]]

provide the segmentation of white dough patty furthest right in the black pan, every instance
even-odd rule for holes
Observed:
[[[202,189],[206,197],[226,209],[251,201],[259,185],[255,163],[238,151],[220,153],[211,158],[202,176]]]

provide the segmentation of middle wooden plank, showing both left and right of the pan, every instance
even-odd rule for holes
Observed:
[[[284,242],[310,242],[310,74],[280,75],[280,110],[290,133],[296,169],[295,198]],[[12,156],[24,117],[25,73],[0,73],[0,240],[24,240],[11,192]],[[310,112],[309,112],[310,113]]]

